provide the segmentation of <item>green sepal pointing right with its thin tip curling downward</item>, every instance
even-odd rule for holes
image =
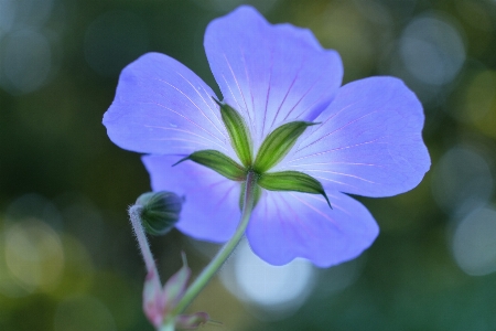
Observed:
[[[269,191],[295,191],[311,194],[322,194],[328,201],[324,188],[321,182],[306,173],[299,171],[281,171],[272,173],[263,173],[258,179],[257,183]]]

